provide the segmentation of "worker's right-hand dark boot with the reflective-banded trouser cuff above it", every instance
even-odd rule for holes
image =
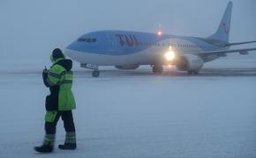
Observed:
[[[59,149],[74,150],[77,148],[76,133],[66,133],[64,145],[59,145]]]

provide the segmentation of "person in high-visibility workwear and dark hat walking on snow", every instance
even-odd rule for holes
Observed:
[[[72,94],[72,61],[65,59],[59,48],[53,50],[50,60],[53,65],[42,72],[43,83],[49,87],[50,95],[45,101],[45,137],[41,147],[34,147],[39,153],[51,153],[54,149],[56,124],[64,121],[65,141],[60,149],[76,149],[76,132],[72,110],[76,108]]]

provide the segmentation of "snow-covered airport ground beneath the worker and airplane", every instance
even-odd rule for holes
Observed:
[[[219,60],[200,75],[75,68],[78,149],[36,154],[44,135],[41,63],[0,64],[0,157],[256,157],[256,60]],[[10,64],[11,65],[11,64]],[[57,126],[56,144],[64,141]]]

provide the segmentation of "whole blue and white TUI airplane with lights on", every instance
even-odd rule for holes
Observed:
[[[93,69],[94,77],[100,75],[99,66],[136,69],[140,65],[150,65],[154,74],[161,74],[164,65],[173,65],[179,71],[197,75],[205,62],[230,53],[245,55],[256,50],[230,50],[231,46],[256,42],[229,42],[232,6],[230,1],[217,31],[207,38],[169,35],[162,31],[98,31],[80,36],[64,53],[78,61],[82,68]]]

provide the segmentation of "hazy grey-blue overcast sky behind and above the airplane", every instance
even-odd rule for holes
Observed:
[[[81,34],[97,30],[207,37],[228,0],[0,0],[0,58],[49,59]],[[256,0],[233,0],[230,41],[256,39]],[[253,46],[253,45],[252,45]],[[254,45],[255,46],[255,45]]]

